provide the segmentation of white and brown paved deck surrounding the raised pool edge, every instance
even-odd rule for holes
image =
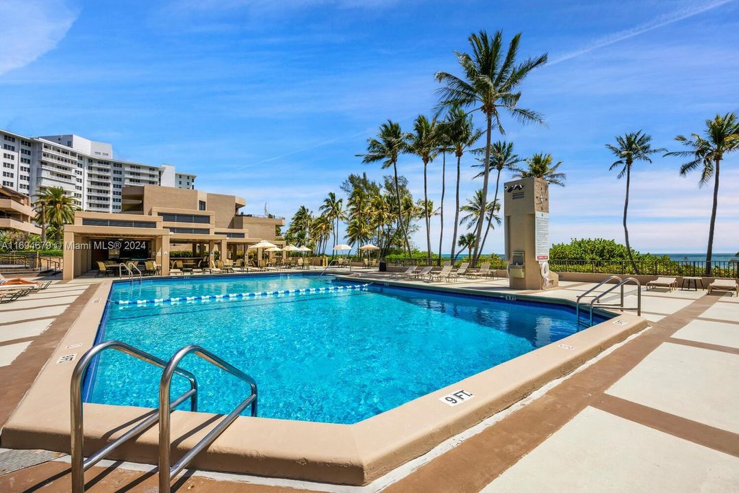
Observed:
[[[387,276],[364,273],[362,278]],[[55,282],[41,293],[0,305],[0,425],[100,280]],[[556,290],[538,292],[509,290],[507,283],[460,279],[449,287],[573,300],[593,286],[561,282]],[[628,287],[627,305],[636,301],[635,289]],[[501,413],[505,417],[489,426],[367,486],[290,480],[270,485],[264,478],[190,472],[173,491],[739,491],[739,299],[657,289],[642,291],[642,305],[642,316],[651,322],[647,330],[532,395],[525,405]],[[0,451],[0,491],[44,486],[42,491],[67,492],[68,458],[58,456]],[[103,464],[86,477],[91,492],[155,491],[157,484],[151,466],[127,463]]]

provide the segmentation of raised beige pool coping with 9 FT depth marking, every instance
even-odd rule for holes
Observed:
[[[357,280],[349,276],[338,276],[338,279],[342,277],[347,281]],[[384,282],[403,288],[493,298],[511,294]],[[57,361],[61,356],[75,353],[79,358],[92,347],[111,288],[112,281],[103,280],[95,290],[7,422],[1,437],[2,446],[69,452],[69,380],[74,362]],[[574,305],[567,299],[531,294],[517,294],[516,299]],[[197,456],[191,466],[363,486],[520,401],[549,381],[571,373],[607,347],[644,327],[647,321],[641,317],[616,316],[356,424],[239,417],[209,449]],[[455,407],[440,401],[458,390],[465,390],[474,398]],[[84,404],[86,454],[120,436],[147,411],[149,409],[141,407]],[[173,458],[179,458],[194,446],[217,417],[205,412],[175,411],[171,419]],[[157,427],[154,426],[136,441],[120,447],[110,458],[156,463],[157,440]]]

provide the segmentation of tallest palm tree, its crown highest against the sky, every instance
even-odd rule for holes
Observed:
[[[498,31],[490,38],[488,33],[480,31],[469,37],[472,55],[457,52],[457,61],[464,72],[463,78],[447,72],[437,72],[436,80],[445,86],[437,89],[440,96],[439,107],[460,106],[467,108],[476,106],[486,118],[486,156],[485,162],[490,162],[490,144],[493,132],[493,122],[501,134],[505,134],[500,121],[500,110],[503,109],[522,123],[541,123],[541,116],[530,109],[517,107],[521,98],[520,84],[526,76],[547,61],[547,55],[528,58],[521,64],[516,64],[518,45],[521,33],[515,35],[508,44],[508,51],[503,55],[503,33]],[[486,166],[483,175],[483,208],[488,201],[489,166]],[[483,236],[483,222],[477,223],[475,237],[473,265],[480,256],[480,238]]]

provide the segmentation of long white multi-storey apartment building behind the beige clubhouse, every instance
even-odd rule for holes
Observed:
[[[79,135],[24,137],[0,129],[0,145],[3,186],[31,197],[58,186],[84,211],[120,212],[123,186],[195,188],[195,174],[115,159],[111,144]]]

